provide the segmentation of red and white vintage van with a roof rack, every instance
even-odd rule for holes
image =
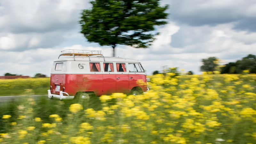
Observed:
[[[100,51],[65,50],[51,71],[48,98],[89,99],[116,92],[146,92],[146,72],[138,60],[104,57]],[[60,58],[59,56],[59,58]]]

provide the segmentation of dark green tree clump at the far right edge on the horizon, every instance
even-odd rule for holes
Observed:
[[[244,70],[249,70],[250,73],[256,73],[256,56],[249,54],[242,60],[225,64],[221,69],[221,74],[241,74]]]

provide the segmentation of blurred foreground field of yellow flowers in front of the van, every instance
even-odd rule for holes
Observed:
[[[0,143],[256,143],[256,75],[150,77],[139,96],[2,104]]]

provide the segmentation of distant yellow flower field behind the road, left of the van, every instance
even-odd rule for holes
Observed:
[[[0,79],[0,96],[44,95],[50,88],[50,77]]]

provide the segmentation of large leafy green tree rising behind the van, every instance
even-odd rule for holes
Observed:
[[[148,48],[155,39],[154,26],[167,22],[160,0],[93,0],[92,9],[84,10],[81,33],[90,43],[112,46],[113,56],[118,44]]]

